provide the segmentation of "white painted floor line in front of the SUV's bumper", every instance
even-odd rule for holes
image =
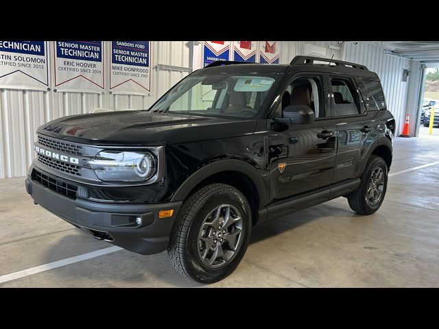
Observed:
[[[122,249],[121,247],[117,247],[117,246],[108,247],[108,248],[97,250],[95,252],[88,252],[87,254],[82,254],[79,256],[74,256],[74,257],[58,260],[58,261],[53,262],[53,263],[48,263],[48,264],[44,264],[44,265],[40,265],[40,266],[36,266],[36,267],[31,267],[30,269],[23,269],[23,271],[5,274],[4,276],[0,276],[0,283],[8,282],[8,281],[15,280],[18,278],[23,278],[25,276],[32,276],[32,274],[36,274],[36,273],[40,273],[40,272],[44,272],[44,271],[49,271],[49,269],[56,269],[56,267],[62,267],[65,265],[82,262],[82,260],[87,260],[90,258],[95,258],[98,256],[110,254],[112,252],[117,252],[121,249]]]

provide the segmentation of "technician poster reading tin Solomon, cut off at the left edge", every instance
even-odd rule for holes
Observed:
[[[0,88],[47,90],[47,42],[0,41]]]

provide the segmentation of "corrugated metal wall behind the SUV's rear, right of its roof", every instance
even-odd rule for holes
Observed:
[[[381,45],[368,42],[345,42],[342,60],[364,64],[370,71],[379,75],[388,110],[395,117],[396,136],[399,136],[403,130],[406,112],[412,113],[411,132],[413,132],[417,104],[415,94],[419,90],[419,63],[407,58],[385,55]],[[407,82],[401,81],[404,66],[410,69]],[[409,91],[410,97],[407,97]]]

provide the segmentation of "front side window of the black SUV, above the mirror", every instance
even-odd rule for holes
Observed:
[[[289,105],[306,105],[313,110],[316,119],[325,117],[320,77],[299,77],[289,84],[275,115],[281,117],[281,112]]]

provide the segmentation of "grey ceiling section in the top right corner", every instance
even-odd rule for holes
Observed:
[[[379,43],[392,55],[418,60],[427,66],[439,64],[439,41],[386,41]]]

